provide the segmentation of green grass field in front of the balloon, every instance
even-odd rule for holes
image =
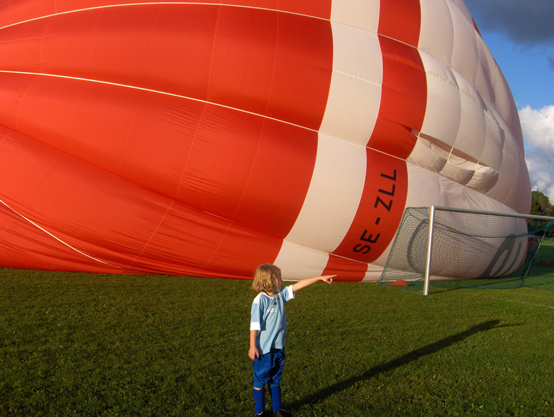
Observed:
[[[253,415],[249,286],[0,269],[0,416]],[[294,416],[554,414],[551,292],[316,284],[287,317]]]

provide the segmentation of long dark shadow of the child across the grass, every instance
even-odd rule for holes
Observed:
[[[353,384],[356,384],[357,382],[369,380],[370,378],[373,378],[379,375],[380,373],[391,371],[395,368],[399,368],[400,366],[409,364],[409,362],[418,360],[420,357],[431,355],[431,353],[436,353],[441,349],[447,348],[448,346],[452,346],[453,344],[458,343],[458,341],[462,341],[466,337],[470,337],[471,335],[474,335],[476,333],[485,332],[493,328],[513,326],[513,325],[499,326],[499,323],[500,323],[499,320],[485,321],[484,323],[473,326],[472,328],[469,328],[463,332],[460,332],[457,335],[445,337],[445,339],[441,339],[434,343],[428,344],[427,346],[423,346],[422,348],[415,349],[415,351],[406,353],[406,355],[402,355],[401,357],[398,357],[395,360],[391,360],[391,362],[386,362],[386,364],[373,366],[373,368],[362,373],[361,375],[353,376],[352,378],[348,378],[348,380],[338,382],[337,384],[333,384],[330,387],[322,389],[319,392],[310,394],[309,396],[305,396],[304,398],[301,398],[301,400],[292,402],[292,404],[288,405],[288,408],[291,410],[296,410],[304,405],[315,404],[316,402],[323,400],[323,398],[327,398],[329,396],[332,396],[334,393],[338,393],[340,391],[343,391],[344,389],[351,387]]]

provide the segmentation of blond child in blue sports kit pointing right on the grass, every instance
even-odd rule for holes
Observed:
[[[316,276],[303,279],[281,288],[281,270],[275,265],[263,264],[256,269],[252,290],[258,295],[252,303],[250,317],[249,357],[254,368],[254,402],[256,416],[265,415],[265,385],[269,384],[275,416],[290,416],[281,409],[280,380],[285,364],[285,336],[287,317],[285,303],[294,299],[294,294],[317,281],[332,283],[336,275]]]

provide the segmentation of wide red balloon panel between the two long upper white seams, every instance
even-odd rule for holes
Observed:
[[[47,16],[24,26],[32,37],[21,39],[21,25],[3,29],[3,60],[18,71],[153,89],[312,129],[321,123],[332,62],[332,34],[321,19],[144,4]]]

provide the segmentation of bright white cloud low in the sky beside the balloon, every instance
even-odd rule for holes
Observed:
[[[525,141],[525,160],[533,190],[554,203],[554,105],[519,110]]]

